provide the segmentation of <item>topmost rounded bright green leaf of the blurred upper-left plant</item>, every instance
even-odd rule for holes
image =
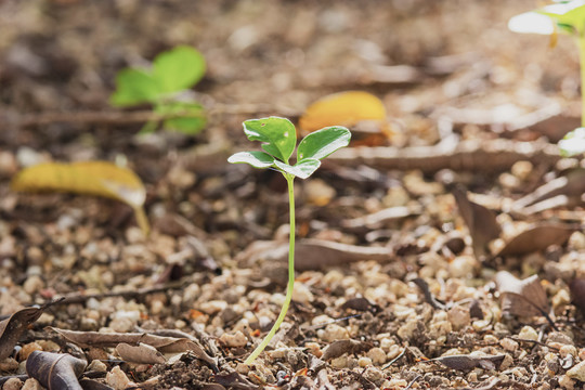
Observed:
[[[197,83],[205,75],[205,58],[197,50],[182,46],[156,56],[153,78],[161,93],[178,92]]]

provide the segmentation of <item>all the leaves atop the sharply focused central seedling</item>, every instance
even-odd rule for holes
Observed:
[[[264,152],[239,152],[232,155],[229,162],[275,168],[300,179],[309,178],[321,166],[323,158],[347,146],[351,139],[350,131],[341,126],[314,131],[299,143],[297,164],[291,166],[288,159],[297,145],[297,130],[290,120],[280,117],[246,120],[244,133],[250,141],[262,142]]]

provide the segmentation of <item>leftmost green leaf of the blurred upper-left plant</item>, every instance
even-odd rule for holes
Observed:
[[[116,92],[110,98],[115,106],[155,102],[160,94],[157,82],[140,69],[122,69],[116,76]]]

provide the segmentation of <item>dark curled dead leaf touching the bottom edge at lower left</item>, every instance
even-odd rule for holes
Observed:
[[[87,365],[67,353],[34,351],[26,360],[26,373],[49,390],[82,390],[77,378]]]

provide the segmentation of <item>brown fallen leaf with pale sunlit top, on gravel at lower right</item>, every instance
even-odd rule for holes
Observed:
[[[518,316],[543,315],[552,327],[555,323],[548,315],[548,300],[538,275],[519,280],[508,271],[495,275],[499,290],[502,312]]]

